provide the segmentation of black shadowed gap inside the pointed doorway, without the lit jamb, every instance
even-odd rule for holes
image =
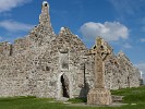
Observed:
[[[69,98],[69,93],[68,93],[69,86],[67,86],[63,75],[61,75],[61,84],[62,84],[62,96]]]

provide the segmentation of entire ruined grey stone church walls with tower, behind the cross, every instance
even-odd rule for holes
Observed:
[[[95,57],[67,27],[56,35],[49,4],[43,2],[39,24],[14,44],[0,43],[0,97],[86,97],[95,82]],[[124,53],[105,61],[105,86],[137,87],[140,72]]]

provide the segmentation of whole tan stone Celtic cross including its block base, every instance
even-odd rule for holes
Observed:
[[[105,60],[112,52],[111,47],[100,37],[96,39],[96,45],[90,53],[95,55],[95,84],[88,92],[88,105],[110,105],[112,102],[111,93],[105,88]]]

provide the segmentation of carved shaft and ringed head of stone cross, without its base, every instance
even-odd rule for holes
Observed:
[[[105,88],[105,60],[112,52],[112,48],[100,37],[97,37],[96,45],[90,49],[95,55],[95,87]]]

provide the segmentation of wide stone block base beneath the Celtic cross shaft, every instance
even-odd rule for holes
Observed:
[[[106,88],[93,88],[87,95],[87,105],[106,106],[111,102],[111,93]]]

